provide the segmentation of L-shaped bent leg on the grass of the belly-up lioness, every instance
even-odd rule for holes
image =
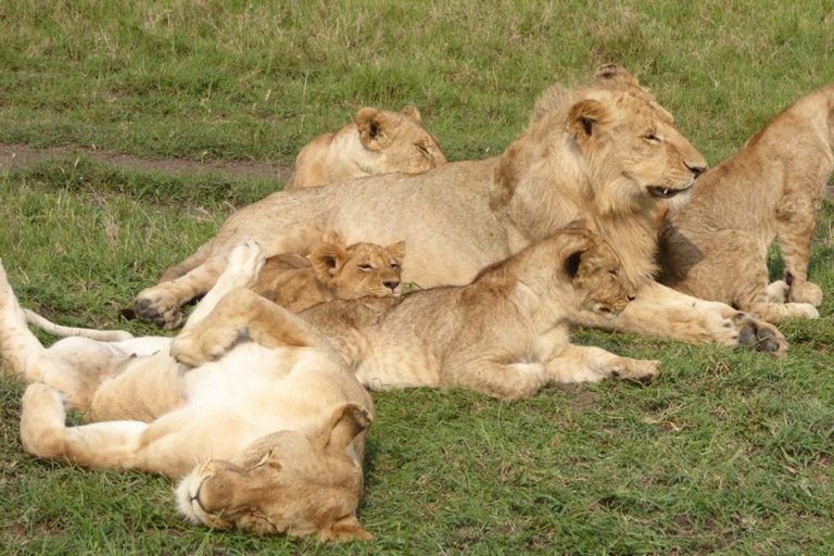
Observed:
[[[66,427],[61,393],[42,382],[29,384],[23,395],[21,441],[29,454],[67,460],[81,467],[129,467],[147,424],[116,421]]]

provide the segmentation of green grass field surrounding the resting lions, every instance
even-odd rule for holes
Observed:
[[[23,303],[67,325],[118,309],[278,179],[138,172],[159,160],[291,164],[363,105],[416,104],[450,160],[501,152],[555,80],[617,62],[711,163],[834,83],[834,7],[704,2],[350,1],[0,4],[0,143],[79,154],[0,172],[0,256]],[[80,149],[85,149],[80,151]],[[4,554],[831,554],[834,203],[811,279],[822,318],[783,358],[580,331],[658,358],[649,387],[377,395],[370,544],[260,539],[185,523],[169,483],[25,454],[20,384],[0,379]],[[773,254],[773,268],[779,268]],[[43,337],[45,341],[51,341]]]

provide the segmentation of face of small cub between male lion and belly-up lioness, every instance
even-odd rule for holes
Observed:
[[[316,279],[342,300],[382,298],[399,291],[404,257],[404,241],[388,247],[376,243],[344,247],[332,238],[309,254]]]

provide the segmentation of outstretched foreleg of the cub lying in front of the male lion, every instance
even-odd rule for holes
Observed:
[[[552,382],[599,382],[606,379],[650,382],[660,362],[632,359],[607,352],[602,348],[565,345],[561,353],[546,364]]]

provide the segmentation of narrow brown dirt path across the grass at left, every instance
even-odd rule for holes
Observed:
[[[139,159],[101,149],[81,147],[54,147],[51,149],[31,149],[26,144],[0,144],[0,172],[10,168],[22,168],[31,164],[50,160],[85,156],[111,166],[138,169],[144,172],[162,172],[164,174],[225,174],[245,178],[280,178],[289,179],[292,168],[277,166],[266,162],[195,162],[180,159]]]

